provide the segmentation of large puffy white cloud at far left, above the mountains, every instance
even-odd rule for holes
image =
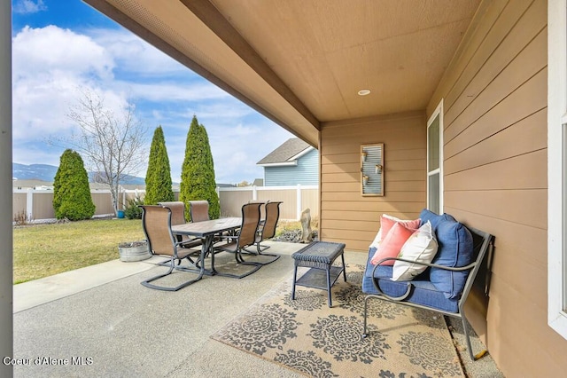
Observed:
[[[87,35],[56,26],[22,28],[12,39],[13,139],[44,143],[74,127],[77,88],[113,80],[113,57]],[[119,96],[108,94],[109,101]]]

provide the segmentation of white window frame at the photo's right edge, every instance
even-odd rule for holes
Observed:
[[[567,0],[548,1],[548,326],[567,339]]]

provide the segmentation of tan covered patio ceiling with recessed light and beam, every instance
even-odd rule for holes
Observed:
[[[84,1],[312,146],[324,122],[424,109],[481,12],[481,0]]]

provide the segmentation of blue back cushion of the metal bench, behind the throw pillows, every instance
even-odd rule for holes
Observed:
[[[431,222],[439,249],[431,262],[443,266],[465,266],[473,261],[473,240],[470,231],[464,224],[454,220],[448,214],[437,215],[424,209],[420,214],[422,222]],[[462,294],[469,271],[451,272],[439,268],[431,268],[431,283],[442,291],[447,298],[456,299]]]

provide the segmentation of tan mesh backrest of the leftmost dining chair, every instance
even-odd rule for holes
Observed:
[[[154,255],[175,256],[175,239],[171,232],[171,210],[155,205],[141,205],[142,227]]]

